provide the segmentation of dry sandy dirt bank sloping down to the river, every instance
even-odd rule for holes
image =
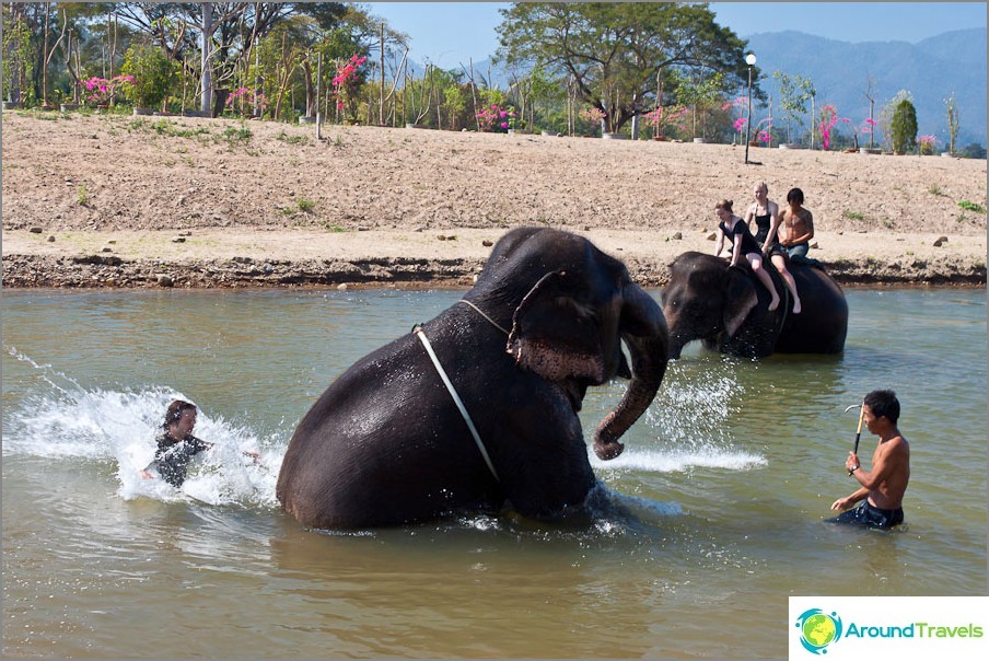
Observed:
[[[4,111],[7,287],[469,286],[521,225],[647,286],[714,202],[799,186],[842,283],[986,283],[986,161]],[[959,202],[969,209],[959,207]],[[976,210],[971,206],[976,205]],[[938,241],[943,239],[942,241]],[[935,246],[935,243],[940,243]]]

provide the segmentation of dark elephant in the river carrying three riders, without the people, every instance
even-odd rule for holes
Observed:
[[[845,294],[822,268],[792,260],[803,311],[793,301],[779,272],[768,260],[764,268],[780,294],[769,312],[769,292],[746,267],[705,253],[688,252],[670,265],[663,288],[663,313],[670,328],[670,357],[679,358],[695,339],[722,353],[763,358],[770,353],[839,353],[848,333]]]

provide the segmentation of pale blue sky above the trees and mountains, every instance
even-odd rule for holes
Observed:
[[[410,57],[444,69],[485,60],[498,48],[503,2],[365,2],[411,37]],[[986,27],[986,2],[712,2],[740,37],[796,30],[842,42],[917,43],[952,30]]]

